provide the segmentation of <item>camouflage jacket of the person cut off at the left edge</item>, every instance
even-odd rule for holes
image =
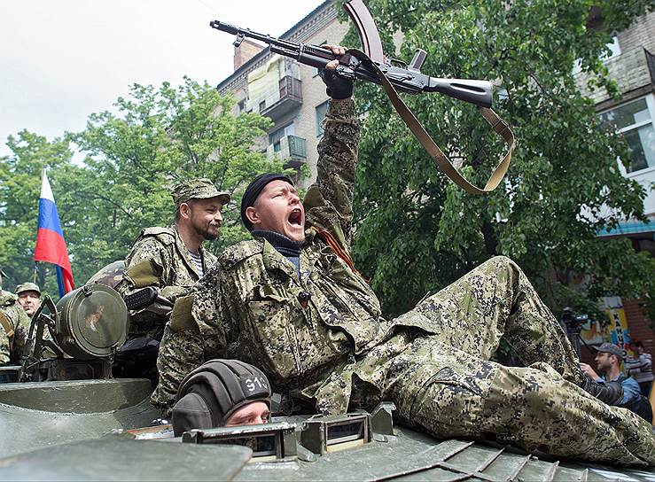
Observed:
[[[0,366],[18,363],[27,340],[30,319],[16,299],[16,295],[0,290]]]

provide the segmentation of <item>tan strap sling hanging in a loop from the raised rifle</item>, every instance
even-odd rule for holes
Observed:
[[[441,171],[443,171],[443,173],[448,176],[448,179],[450,179],[453,183],[456,183],[459,187],[470,194],[484,194],[486,192],[495,190],[498,184],[500,184],[503,180],[505,173],[507,173],[508,167],[510,167],[511,153],[514,151],[514,147],[516,146],[514,134],[511,132],[511,128],[505,121],[503,121],[503,119],[498,116],[498,114],[496,114],[493,110],[488,109],[487,107],[478,106],[482,116],[489,123],[491,128],[495,130],[495,133],[503,137],[505,144],[508,146],[507,152],[503,156],[503,159],[501,159],[498,166],[495,167],[495,170],[489,177],[487,184],[483,189],[480,189],[479,187],[472,185],[472,183],[469,183],[466,179],[464,179],[464,176],[459,174],[456,167],[453,166],[450,159],[448,159],[448,156],[441,151],[439,146],[433,141],[432,137],[425,131],[425,128],[417,120],[414,113],[409,110],[409,107],[405,105],[405,103],[402,101],[402,98],[398,96],[398,92],[396,92],[396,89],[394,89],[394,86],[386,78],[385,73],[379,69],[378,65],[370,60],[370,58],[362,51],[350,49],[348,50],[348,53],[352,54],[355,58],[370,63],[370,65],[373,66],[375,71],[378,73],[382,87],[385,89],[386,95],[389,97],[389,100],[391,100],[392,105],[394,105],[396,112],[401,116],[402,121],[405,122],[409,130],[411,130],[412,134],[414,134],[414,136],[417,138],[417,141],[423,145],[425,151],[427,151],[428,154],[430,154],[430,156],[432,156],[432,158],[436,161],[437,166],[441,168]]]

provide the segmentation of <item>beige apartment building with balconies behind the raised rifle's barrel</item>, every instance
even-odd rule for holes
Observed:
[[[281,38],[295,43],[340,43],[347,23],[337,21],[338,5],[327,0],[286,31]],[[323,136],[321,123],[328,97],[314,67],[273,54],[269,48],[244,39],[235,49],[234,73],[218,84],[221,94],[237,99],[236,113],[256,112],[269,117],[273,128],[261,139],[269,157],[285,159],[286,165],[308,176],[298,176],[300,187],[316,180],[316,146]]]

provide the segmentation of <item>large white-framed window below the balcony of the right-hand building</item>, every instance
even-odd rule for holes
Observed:
[[[628,142],[628,173],[655,167],[655,131],[652,125],[654,112],[655,100],[650,95],[600,114],[601,120],[611,123]]]

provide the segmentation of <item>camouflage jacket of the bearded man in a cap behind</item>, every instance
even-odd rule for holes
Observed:
[[[216,262],[214,254],[207,252],[200,246],[204,269],[212,268]],[[152,260],[160,268],[160,274],[152,284],[138,284],[129,277],[127,271],[143,260]],[[182,238],[177,233],[175,225],[169,228],[144,229],[141,236],[136,239],[132,250],[125,259],[125,271],[122,281],[115,289],[123,297],[135,292],[146,285],[160,289],[165,298],[175,300],[186,294],[191,285],[200,278],[198,268],[187,253]],[[160,320],[157,315],[140,310],[130,313],[129,338],[151,337],[160,338]]]

